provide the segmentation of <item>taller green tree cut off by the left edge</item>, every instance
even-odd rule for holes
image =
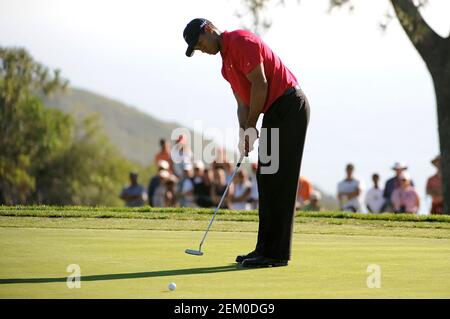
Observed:
[[[25,203],[34,167],[65,147],[70,118],[45,109],[36,95],[66,85],[25,50],[0,47],[0,203]]]

